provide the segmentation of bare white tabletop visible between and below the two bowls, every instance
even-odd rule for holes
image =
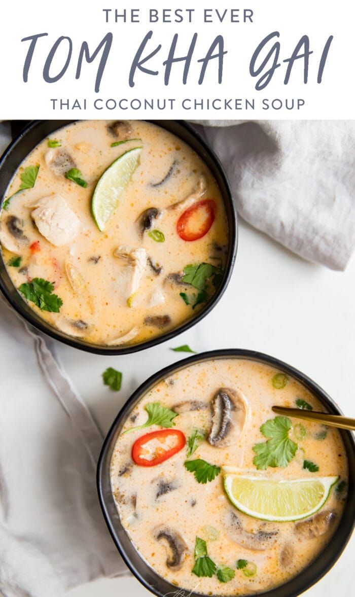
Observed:
[[[62,362],[92,415],[106,433],[138,384],[183,358],[169,347],[190,344],[202,352],[247,348],[266,352],[297,367],[320,384],[348,416],[355,417],[355,259],[345,273],[332,272],[294,256],[245,223],[239,223],[239,250],[226,293],[192,330],[165,344],[122,356],[97,356],[58,345]],[[103,386],[101,373],[124,374],[122,390]],[[355,538],[337,565],[307,597],[348,597],[355,585]],[[100,579],[68,597],[148,597],[135,578]]]

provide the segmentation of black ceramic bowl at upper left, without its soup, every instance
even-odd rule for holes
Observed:
[[[15,171],[21,164],[24,158],[38,145],[40,141],[45,137],[50,136],[58,128],[64,127],[71,122],[70,120],[45,120],[45,121],[33,121],[27,125],[18,137],[11,143],[10,147],[5,151],[4,155],[0,160],[0,205],[4,201],[4,195],[7,190],[8,184],[14,176]],[[161,120],[161,121],[149,121],[159,127],[165,128],[177,137],[180,137],[185,141],[193,150],[203,159],[205,164],[211,170],[215,180],[217,181],[218,187],[220,188],[221,195],[224,201],[224,207],[226,209],[227,223],[229,226],[229,246],[227,251],[226,268],[223,273],[223,279],[221,280],[220,287],[217,289],[211,299],[203,306],[195,316],[187,321],[184,321],[174,330],[171,330],[165,334],[161,334],[152,340],[147,340],[141,343],[132,344],[131,346],[102,346],[101,344],[91,344],[81,340],[79,338],[73,338],[67,336],[57,328],[51,326],[44,321],[39,315],[37,315],[30,306],[21,298],[20,294],[14,288],[13,282],[11,282],[10,276],[7,273],[4,261],[0,256],[0,290],[7,298],[9,303],[17,310],[20,315],[24,317],[30,324],[34,325],[38,330],[48,334],[60,340],[69,346],[86,350],[87,352],[94,352],[100,355],[125,355],[131,352],[137,352],[137,350],[143,350],[150,346],[155,346],[165,340],[170,340],[178,334],[189,330],[190,327],[197,324],[213,307],[218,303],[222,294],[227,288],[231,272],[233,270],[234,261],[236,259],[237,251],[237,220],[236,211],[234,210],[233,199],[231,196],[231,190],[224,173],[223,167],[212,151],[211,147],[206,144],[203,138],[197,131],[191,127],[187,122],[177,120]],[[1,253],[0,253],[1,255]]]

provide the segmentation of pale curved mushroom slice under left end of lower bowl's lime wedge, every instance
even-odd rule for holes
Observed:
[[[276,542],[278,531],[265,530],[263,525],[255,533],[249,533],[243,528],[242,521],[234,512],[229,512],[225,519],[227,534],[238,545],[252,551],[264,552]]]

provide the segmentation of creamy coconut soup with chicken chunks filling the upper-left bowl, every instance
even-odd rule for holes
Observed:
[[[0,226],[8,273],[32,309],[113,346],[192,318],[218,287],[228,242],[209,169],[144,121],[55,131],[18,168]]]

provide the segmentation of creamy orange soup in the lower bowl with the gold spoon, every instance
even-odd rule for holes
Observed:
[[[300,383],[237,358],[186,367],[132,410],[113,452],[112,493],[142,558],[206,595],[285,583],[338,525],[347,457],[336,429],[277,417],[324,411]]]

